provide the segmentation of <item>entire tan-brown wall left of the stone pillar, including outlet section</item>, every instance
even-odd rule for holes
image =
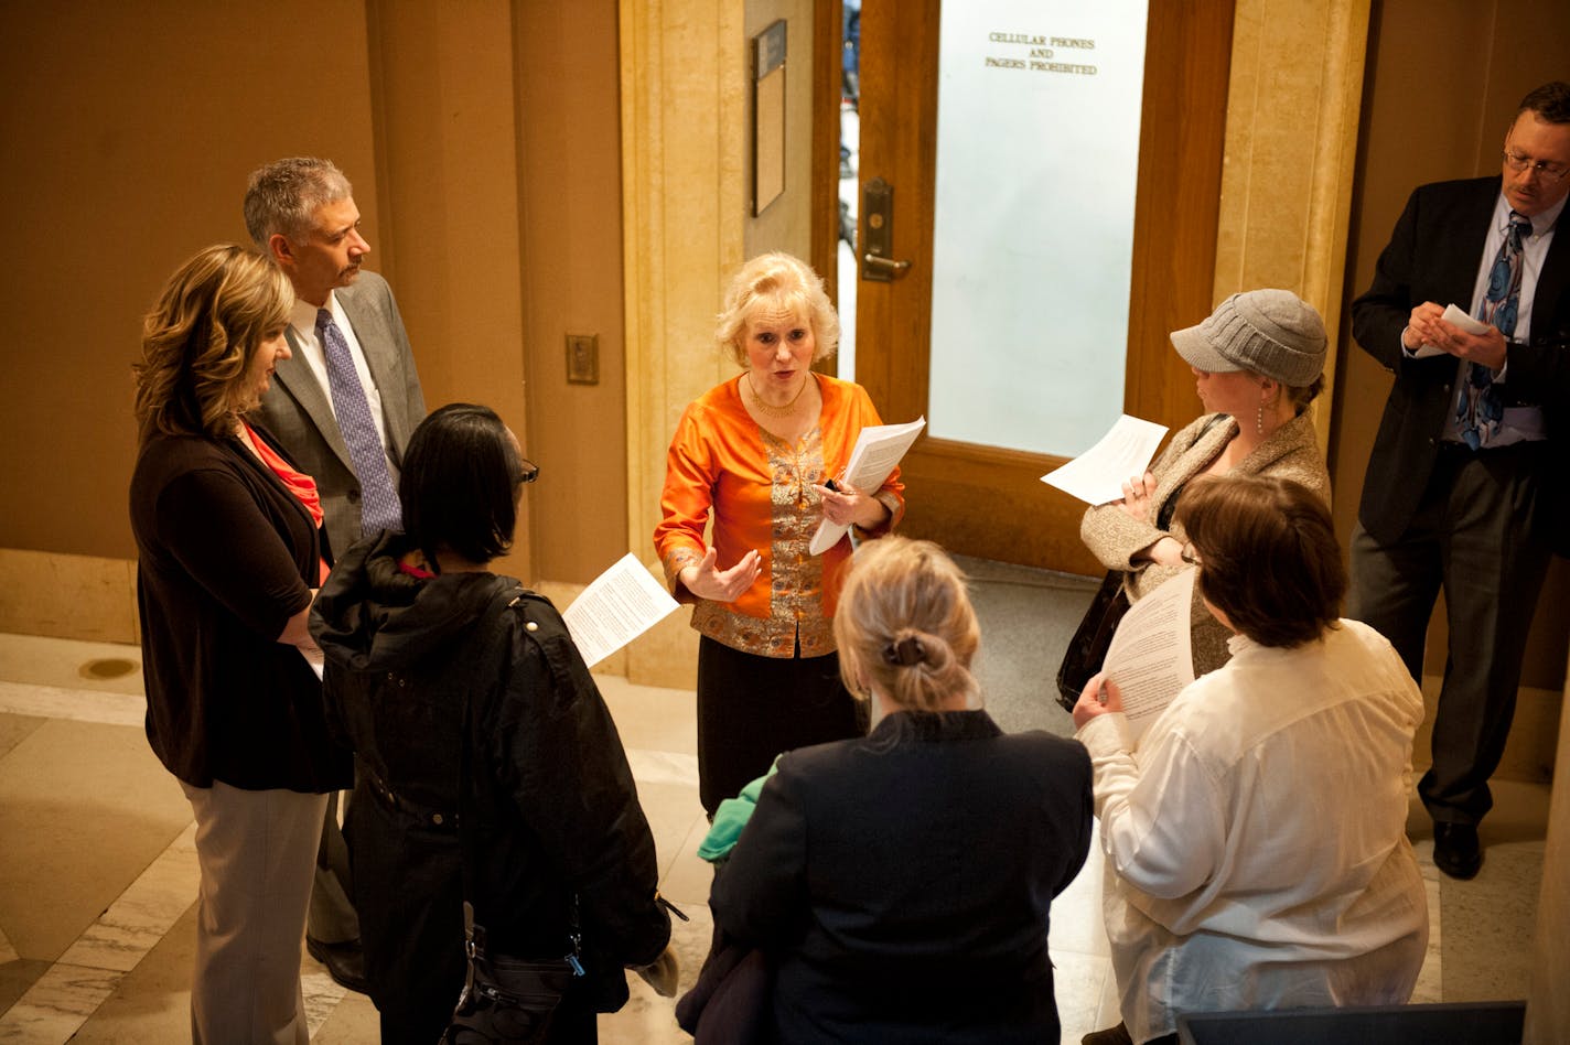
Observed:
[[[0,579],[24,577],[0,626],[71,628],[61,573],[122,581],[140,315],[245,242],[246,174],[292,154],[355,182],[427,403],[490,403],[542,463],[506,568],[587,581],[626,551],[614,0],[5,3],[0,60],[0,228],[27,259],[0,286]],[[568,331],[600,336],[598,386],[565,383]],[[97,603],[72,634],[135,637]]]

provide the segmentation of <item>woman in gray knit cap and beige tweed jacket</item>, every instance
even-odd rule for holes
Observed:
[[[1195,475],[1280,475],[1330,501],[1330,472],[1308,417],[1325,383],[1325,323],[1314,306],[1291,290],[1234,293],[1198,326],[1173,331],[1171,342],[1193,369],[1206,413],[1167,442],[1145,475],[1123,485],[1123,501],[1086,510],[1080,522],[1086,548],[1108,570],[1124,571],[1130,603],[1190,568],[1171,515]],[[1195,596],[1195,675],[1226,664],[1229,634]]]

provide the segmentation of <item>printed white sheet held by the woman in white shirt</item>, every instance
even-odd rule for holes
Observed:
[[[1129,731],[1138,739],[1193,681],[1190,610],[1195,570],[1184,570],[1135,603],[1112,635],[1102,668],[1118,684]]]

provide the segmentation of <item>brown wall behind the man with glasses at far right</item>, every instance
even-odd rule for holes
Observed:
[[[1531,88],[1570,75],[1570,5],[1559,0],[1383,0],[1374,5],[1358,146],[1358,188],[1352,202],[1345,300],[1367,289],[1378,251],[1422,182],[1499,171],[1504,130]],[[1330,442],[1336,530],[1352,533],[1374,431],[1391,377],[1358,350],[1342,315],[1336,372],[1336,416]],[[1539,601],[1521,683],[1550,690],[1537,726],[1554,734],[1564,683],[1570,568],[1554,560]],[[1444,650],[1443,615],[1429,634]],[[1443,670],[1430,657],[1429,673]],[[1540,703],[1540,701],[1539,701]],[[1526,709],[1529,714],[1531,709]],[[1518,728],[1517,733],[1521,733]]]

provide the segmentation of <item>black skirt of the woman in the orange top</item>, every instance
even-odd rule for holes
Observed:
[[[697,778],[703,810],[736,797],[788,750],[865,733],[840,654],[760,657],[703,635],[697,646]]]

